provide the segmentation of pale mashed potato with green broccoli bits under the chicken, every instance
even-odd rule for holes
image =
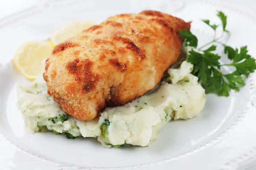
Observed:
[[[193,65],[184,61],[179,69],[169,69],[169,77],[152,94],[114,108],[106,108],[98,119],[80,121],[67,116],[47,94],[40,76],[28,87],[17,89],[18,108],[29,133],[50,130],[76,136],[98,137],[104,147],[125,144],[148,146],[171,119],[190,119],[204,108],[204,88],[190,74]],[[168,83],[172,82],[172,83]]]

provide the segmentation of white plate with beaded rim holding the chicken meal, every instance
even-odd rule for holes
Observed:
[[[38,4],[0,21],[0,169],[12,170],[230,170],[256,155],[256,74],[250,74],[239,93],[230,97],[207,95],[202,114],[186,121],[169,122],[150,147],[105,149],[94,139],[67,140],[52,133],[27,134],[16,108],[16,82],[26,82],[12,58],[20,44],[43,40],[70,20],[101,22],[119,13],[155,9],[186,21],[199,43],[212,38],[201,22],[218,22],[216,10],[228,16],[228,44],[248,45],[256,56],[256,13],[239,6],[208,0],[55,0]],[[228,71],[228,70],[227,70]]]

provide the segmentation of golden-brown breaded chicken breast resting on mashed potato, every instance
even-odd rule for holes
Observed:
[[[145,94],[177,60],[190,23],[158,11],[119,14],[58,45],[46,60],[48,93],[70,116],[92,120]]]

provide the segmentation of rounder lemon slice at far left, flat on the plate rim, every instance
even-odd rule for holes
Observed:
[[[17,50],[14,64],[20,73],[27,79],[35,79],[44,67],[43,60],[51,54],[50,41],[26,42]]]

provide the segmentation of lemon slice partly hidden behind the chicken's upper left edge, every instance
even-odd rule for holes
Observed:
[[[75,35],[81,33],[83,30],[95,25],[92,21],[72,21],[64,26],[61,26],[57,30],[53,31],[50,40],[53,45],[57,45],[60,42],[74,37]]]

